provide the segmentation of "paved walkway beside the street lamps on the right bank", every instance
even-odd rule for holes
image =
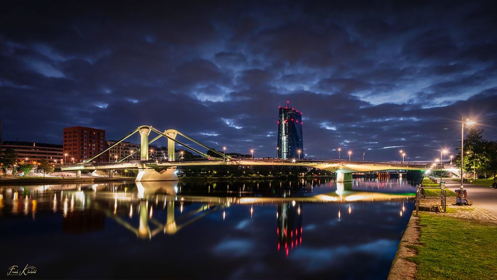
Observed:
[[[459,182],[445,179],[445,187],[454,191],[459,189]],[[489,185],[494,183],[489,180]],[[489,211],[497,216],[497,189],[489,186],[479,186],[475,184],[464,184],[464,188],[468,190],[468,200],[474,202],[479,207]]]

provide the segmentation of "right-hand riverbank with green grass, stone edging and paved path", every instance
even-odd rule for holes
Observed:
[[[457,184],[448,185],[454,192]],[[490,195],[495,205],[497,198],[493,197]],[[497,216],[475,201],[469,202],[457,206],[451,196],[445,213],[415,216],[413,212],[389,279],[497,279]],[[414,238],[413,232],[417,233]]]

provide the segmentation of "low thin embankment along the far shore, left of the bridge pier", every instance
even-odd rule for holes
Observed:
[[[1,185],[18,185],[18,184],[40,184],[40,183],[57,183],[57,184],[73,184],[73,183],[105,183],[105,182],[120,182],[120,181],[135,181],[131,177],[18,177],[18,178],[1,178]]]

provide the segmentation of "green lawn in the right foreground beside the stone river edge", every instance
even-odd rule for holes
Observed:
[[[417,279],[497,279],[497,225],[420,213]]]

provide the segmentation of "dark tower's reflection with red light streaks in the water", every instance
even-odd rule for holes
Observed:
[[[282,248],[288,256],[289,251],[302,244],[302,203],[295,200],[278,204],[278,251]]]

